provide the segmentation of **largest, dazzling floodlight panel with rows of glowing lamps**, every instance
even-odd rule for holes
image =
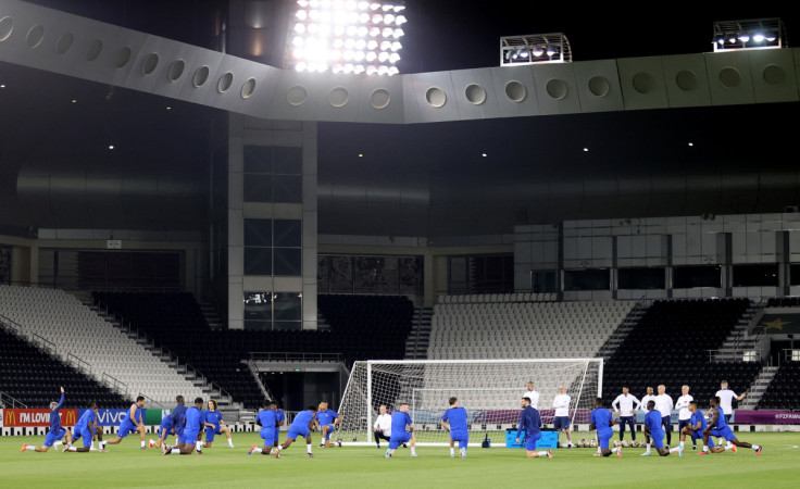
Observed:
[[[404,10],[397,1],[297,0],[287,65],[300,72],[396,75]]]

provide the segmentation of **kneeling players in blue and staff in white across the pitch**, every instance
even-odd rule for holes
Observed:
[[[730,450],[736,453],[737,448],[751,448],[757,455],[761,454],[762,447],[740,441],[736,438],[729,426],[732,401],[733,399],[741,400],[746,393],[737,396],[727,388],[727,383],[723,380],[722,389],[716,392],[710,400],[710,409],[708,413],[702,413],[698,408],[698,402],[689,394],[689,387],[683,386],[682,396],[677,403],[673,403],[672,398],[666,394],[665,386],[658,386],[658,396],[653,394],[653,389],[649,387],[648,393],[639,401],[635,396],[629,393],[627,387],[623,387],[623,393],[612,403],[612,408],[620,418],[620,440],[615,442],[612,449],[610,446],[613,437],[614,415],[603,406],[602,398],[598,398],[595,403],[595,410],[590,415],[589,428],[597,430],[598,451],[595,456],[610,456],[616,454],[622,456],[623,437],[625,427],[628,426],[632,431],[634,441],[636,440],[635,419],[636,412],[643,409],[645,415],[645,438],[647,451],[642,455],[651,454],[651,447],[655,448],[661,456],[667,456],[671,453],[677,453],[678,456],[684,455],[685,440],[687,437],[692,439],[692,446],[697,448],[697,440],[703,441],[702,451],[698,454],[704,455],[709,453],[721,453]],[[537,441],[541,439],[542,421],[538,411],[539,393],[534,389],[534,384],[527,384],[527,391],[522,398],[522,412],[520,413],[520,422],[517,424],[516,442],[524,440],[525,449],[528,457],[546,456],[553,457],[551,450],[537,450]],[[568,406],[570,396],[566,393],[564,386],[559,388],[560,393],[555,396],[553,408],[555,409],[553,425],[558,431],[564,430],[567,439],[567,448],[574,447],[570,432]],[[203,410],[202,398],[195,399],[195,405],[186,408],[184,398],[176,398],[177,405],[172,413],[162,418],[159,427],[159,439],[157,441],[150,439],[149,444],[146,442],[146,428],[143,424],[143,406],[145,398],[139,396],[136,399],[126,415],[120,423],[116,437],[110,440],[103,440],[102,427],[99,425],[99,413],[97,403],[92,402],[89,409],[85,410],[72,431],[62,427],[59,410],[64,403],[64,388],[61,388],[61,399],[59,402],[50,404],[50,430],[48,431],[45,442],[41,447],[23,444],[21,451],[32,450],[37,452],[47,452],[51,447],[64,444],[63,452],[89,452],[91,450],[107,451],[108,444],[117,444],[128,435],[138,432],[140,437],[141,449],[160,448],[164,455],[183,454],[188,455],[197,451],[202,453],[204,447],[211,447],[216,435],[225,434],[229,448],[234,448],[230,430],[222,418],[216,401],[210,400],[207,404],[208,409]],[[449,399],[450,409],[448,409],[441,417],[441,426],[448,432],[450,439],[450,456],[455,456],[454,446],[459,444],[459,456],[466,459],[466,449],[468,443],[468,425],[467,412],[459,405],[457,398]],[[642,408],[643,406],[643,408]],[[672,423],[671,415],[673,409],[679,410],[678,434],[680,442],[678,447],[671,448]],[[389,447],[385,456],[391,457],[395,451],[400,447],[410,447],[411,456],[416,456],[416,438],[414,436],[414,424],[409,415],[409,404],[403,403],[392,414],[387,413],[387,408],[382,405],[380,414],[374,424],[374,436],[376,447],[380,448],[380,440],[387,440]],[[248,454],[261,453],[270,455],[273,453],[279,459],[283,450],[289,448],[298,438],[304,438],[307,443],[307,455],[313,456],[311,432],[318,430],[322,434],[321,448],[334,447],[330,442],[330,436],[336,431],[341,422],[341,416],[334,410],[328,408],[327,402],[322,402],[318,406],[309,406],[305,411],[298,413],[288,428],[285,441],[278,443],[280,426],[286,422],[286,415],[274,401],[265,401],[263,410],[257,416],[257,425],[261,426],[259,435],[263,439],[263,448],[252,446]],[[202,431],[205,431],[205,441],[201,440]],[[170,435],[175,435],[177,443],[168,446],[166,439]],[[97,437],[98,447],[95,448],[93,439]],[[725,446],[715,446],[712,437],[722,438],[727,441]],[[666,444],[664,443],[666,438]],[[63,441],[62,441],[63,439]],[[75,447],[74,443],[83,439],[83,448]],[[337,440],[341,447],[341,439]]]

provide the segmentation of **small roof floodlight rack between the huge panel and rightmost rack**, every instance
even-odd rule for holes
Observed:
[[[500,66],[570,62],[570,41],[561,33],[500,38]]]

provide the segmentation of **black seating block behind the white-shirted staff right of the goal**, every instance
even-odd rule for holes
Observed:
[[[748,299],[657,301],[604,365],[603,397],[613,400],[623,387],[638,398],[647,387],[663,384],[676,397],[683,385],[705,403],[728,380],[747,390],[762,365],[757,362],[711,362],[745,314]]]

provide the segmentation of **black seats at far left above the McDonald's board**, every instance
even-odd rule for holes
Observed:
[[[116,408],[127,402],[93,378],[0,326],[0,391],[28,408],[47,408],[51,401],[59,400],[59,386],[67,392],[64,408],[86,408],[90,401],[102,408]]]

